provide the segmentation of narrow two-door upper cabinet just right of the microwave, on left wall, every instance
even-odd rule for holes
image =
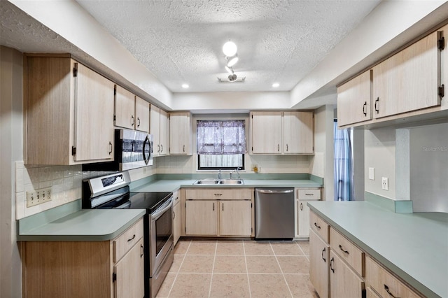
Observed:
[[[169,153],[169,117],[168,113],[151,105],[150,134],[153,135],[153,156]]]

